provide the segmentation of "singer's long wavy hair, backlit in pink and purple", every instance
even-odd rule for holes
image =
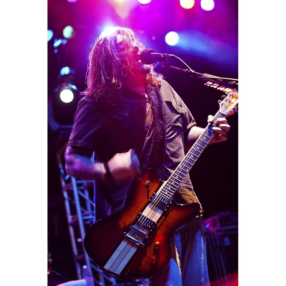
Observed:
[[[116,36],[120,34],[124,47],[119,50],[116,47]],[[134,37],[134,31],[129,28],[115,27],[112,33],[102,32],[96,39],[89,54],[89,64],[86,76],[87,88],[82,92],[89,100],[97,102],[113,103],[120,98],[122,88],[122,64],[124,61],[132,66],[132,53],[134,41],[142,49],[144,44]],[[154,65],[150,65],[151,71],[146,75],[146,87],[157,89],[162,81],[162,74],[154,71]]]

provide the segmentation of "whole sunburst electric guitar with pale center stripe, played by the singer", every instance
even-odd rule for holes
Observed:
[[[238,91],[233,89],[218,102],[215,120],[238,112]],[[142,171],[128,204],[88,229],[84,248],[103,273],[145,284],[166,268],[172,235],[199,211],[198,202],[180,205],[172,198],[214,135],[213,126],[206,126],[168,180],[160,181],[152,169]]]

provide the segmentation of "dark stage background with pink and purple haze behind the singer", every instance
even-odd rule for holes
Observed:
[[[66,45],[60,45],[57,53],[53,39],[47,47],[48,97],[53,99],[59,124],[72,124],[76,109],[76,105],[65,108],[57,101],[54,90],[63,80],[58,78],[59,69],[71,66],[75,72],[69,80],[83,90],[90,46],[107,22],[134,29],[146,47],[175,54],[198,73],[238,79],[238,1],[217,0],[215,9],[202,11],[196,2],[192,9],[186,10],[180,7],[179,0],[153,0],[144,7],[134,5],[124,19],[111,3],[87,0],[76,3],[49,0],[47,3],[47,27],[55,32],[54,38],[63,38],[61,33],[66,25],[72,25],[76,34]],[[184,46],[171,47],[164,43],[164,35],[170,30],[185,35]],[[197,41],[201,44],[198,48],[195,47]],[[177,59],[168,62],[186,68]],[[219,109],[217,101],[223,92],[205,86],[204,81],[190,78],[184,72],[162,69],[159,65],[156,69],[183,98],[198,125],[205,127],[208,114],[214,115]],[[228,140],[208,146],[190,171],[205,218],[218,212],[238,212],[238,114],[228,117],[228,122],[231,125]],[[59,274],[53,274],[55,282],[65,282],[77,278],[55,157],[65,139],[59,140],[57,135],[48,126],[48,251],[53,257],[51,267]]]

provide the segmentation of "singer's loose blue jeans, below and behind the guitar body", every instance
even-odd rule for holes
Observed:
[[[171,241],[172,258],[151,286],[209,286],[206,238],[202,219],[195,218],[176,231]]]

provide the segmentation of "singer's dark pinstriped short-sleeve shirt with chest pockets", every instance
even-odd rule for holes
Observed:
[[[162,80],[160,94],[166,109],[165,152],[157,170],[160,180],[167,180],[184,158],[184,140],[196,122],[180,96]],[[94,154],[95,160],[107,162],[116,153],[134,149],[141,170],[150,168],[152,129],[151,102],[136,92],[126,90],[125,96],[112,106],[101,106],[82,98],[78,104],[75,121],[68,146],[81,148],[87,156]],[[83,151],[84,150],[84,151]],[[120,210],[129,192],[130,181],[109,182],[102,190],[106,200],[107,214]],[[174,194],[174,201],[180,204],[198,202],[187,174]],[[202,207],[200,206],[200,214]]]

